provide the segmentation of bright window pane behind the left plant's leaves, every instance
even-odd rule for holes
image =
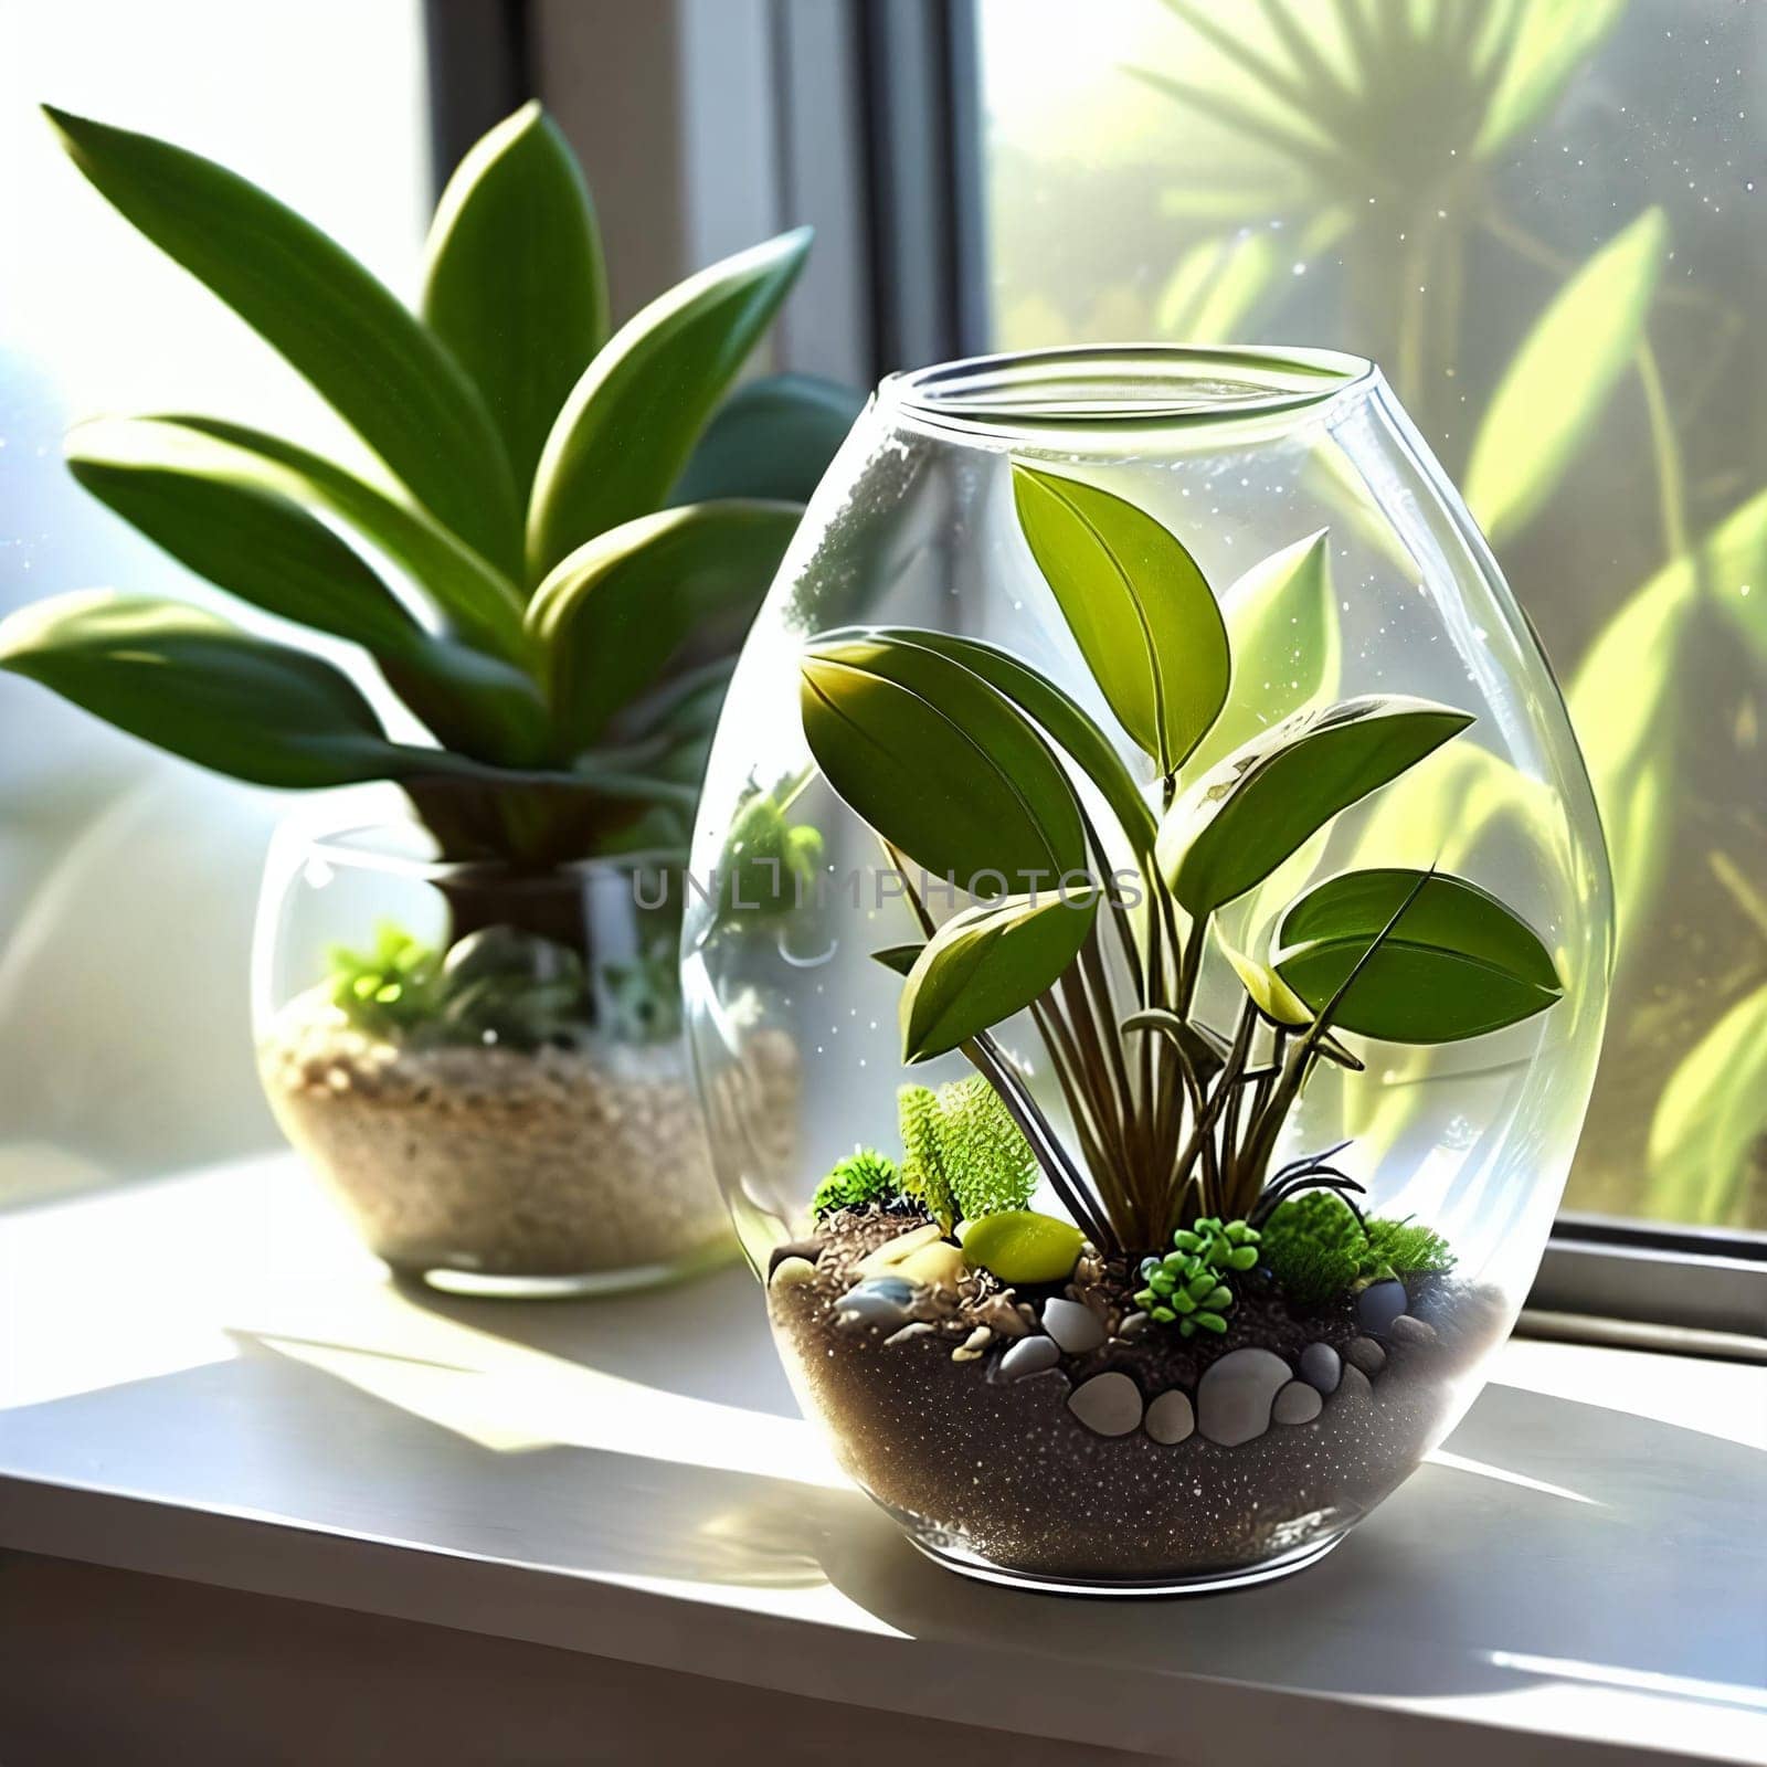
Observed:
[[[207,595],[67,477],[81,417],[212,412],[348,449],[85,184],[37,104],[233,166],[408,293],[421,25],[417,0],[0,0],[0,611],[94,587]],[[276,811],[0,679],[0,1205],[276,1141],[246,1011]]]

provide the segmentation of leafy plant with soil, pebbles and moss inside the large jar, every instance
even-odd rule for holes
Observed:
[[[809,641],[809,751],[915,915],[912,944],[876,952],[903,977],[903,1060],[956,1053],[975,1076],[903,1088],[901,1163],[836,1168],[808,1237],[772,1262],[770,1306],[859,1475],[967,1537],[954,1562],[1152,1569],[1094,1502],[1099,1440],[1141,1435],[1200,1456],[1120,1465],[1145,1481],[1147,1525],[1184,1541],[1196,1580],[1232,1578],[1281,1557],[1267,1528],[1297,1500],[1325,1516],[1378,1497],[1373,1468],[1422,1451],[1504,1323],[1442,1235],[1364,1212],[1352,1143],[1283,1157],[1309,1080],[1362,1069],[1354,1039],[1500,1032],[1562,982],[1537,933],[1467,878],[1376,866],[1283,885],[1468,714],[1368,694],[1260,728],[1258,686],[1235,684],[1217,597],[1172,532],[1021,461],[1012,491],[1152,793],[1074,696],[1004,648],[919,627]],[[1248,723],[1225,753],[1210,742]],[[940,919],[935,894],[967,905]],[[1221,924],[1248,899],[1249,951]],[[961,1115],[975,1092],[1002,1119],[988,1136]],[[963,1184],[944,1180],[954,1154]],[[1030,1207],[1039,1177],[1062,1214]],[[1046,1376],[1066,1394],[1053,1440],[1048,1394],[1032,1396]],[[1322,1417],[1323,1451],[1301,1428]],[[995,1467],[1020,1435],[1039,1444],[1034,1498]],[[1219,1451],[1246,1454],[1232,1477]]]

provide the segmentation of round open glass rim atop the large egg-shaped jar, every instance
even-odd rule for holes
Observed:
[[[1196,428],[1309,412],[1380,369],[1311,346],[1076,345],[972,355],[887,375],[880,410],[919,428],[1011,440],[1055,431]]]

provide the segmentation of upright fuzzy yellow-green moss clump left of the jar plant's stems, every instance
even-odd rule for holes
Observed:
[[[896,1103],[906,1150],[903,1186],[947,1232],[1030,1202],[1037,1157],[981,1074],[937,1092],[903,1087]]]

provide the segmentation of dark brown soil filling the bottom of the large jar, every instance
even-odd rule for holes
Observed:
[[[1200,1433],[1161,1445],[1141,1431],[1099,1437],[1067,1408],[1081,1380],[1129,1375],[1143,1399],[1196,1398],[1216,1357],[1242,1346],[1290,1364],[1308,1343],[1339,1354],[1362,1336],[1355,1304],[1290,1308],[1258,1272],[1235,1279],[1223,1338],[1154,1327],[1134,1341],[1064,1357],[1027,1380],[998,1376],[997,1339],[952,1361],[988,1279],[935,1331],[885,1345],[882,1329],[836,1325],[834,1302],[866,1251],[905,1232],[901,1216],[836,1216],[815,1281],[770,1292],[788,1369],[853,1479],[929,1543],[1044,1578],[1154,1580],[1230,1573],[1339,1532],[1380,1502],[1440,1438],[1463,1384],[1507,1325],[1495,1290],[1452,1276],[1407,1283],[1433,1341],[1382,1338],[1385,1366],[1343,1382],[1311,1424],[1221,1447]],[[1050,1290],[1020,1293],[1034,1304]],[[1078,1292],[1111,1323],[1133,1306],[1120,1267]],[[1041,1306],[1037,1308],[1041,1311]],[[1430,1334],[1421,1334],[1430,1336]]]

